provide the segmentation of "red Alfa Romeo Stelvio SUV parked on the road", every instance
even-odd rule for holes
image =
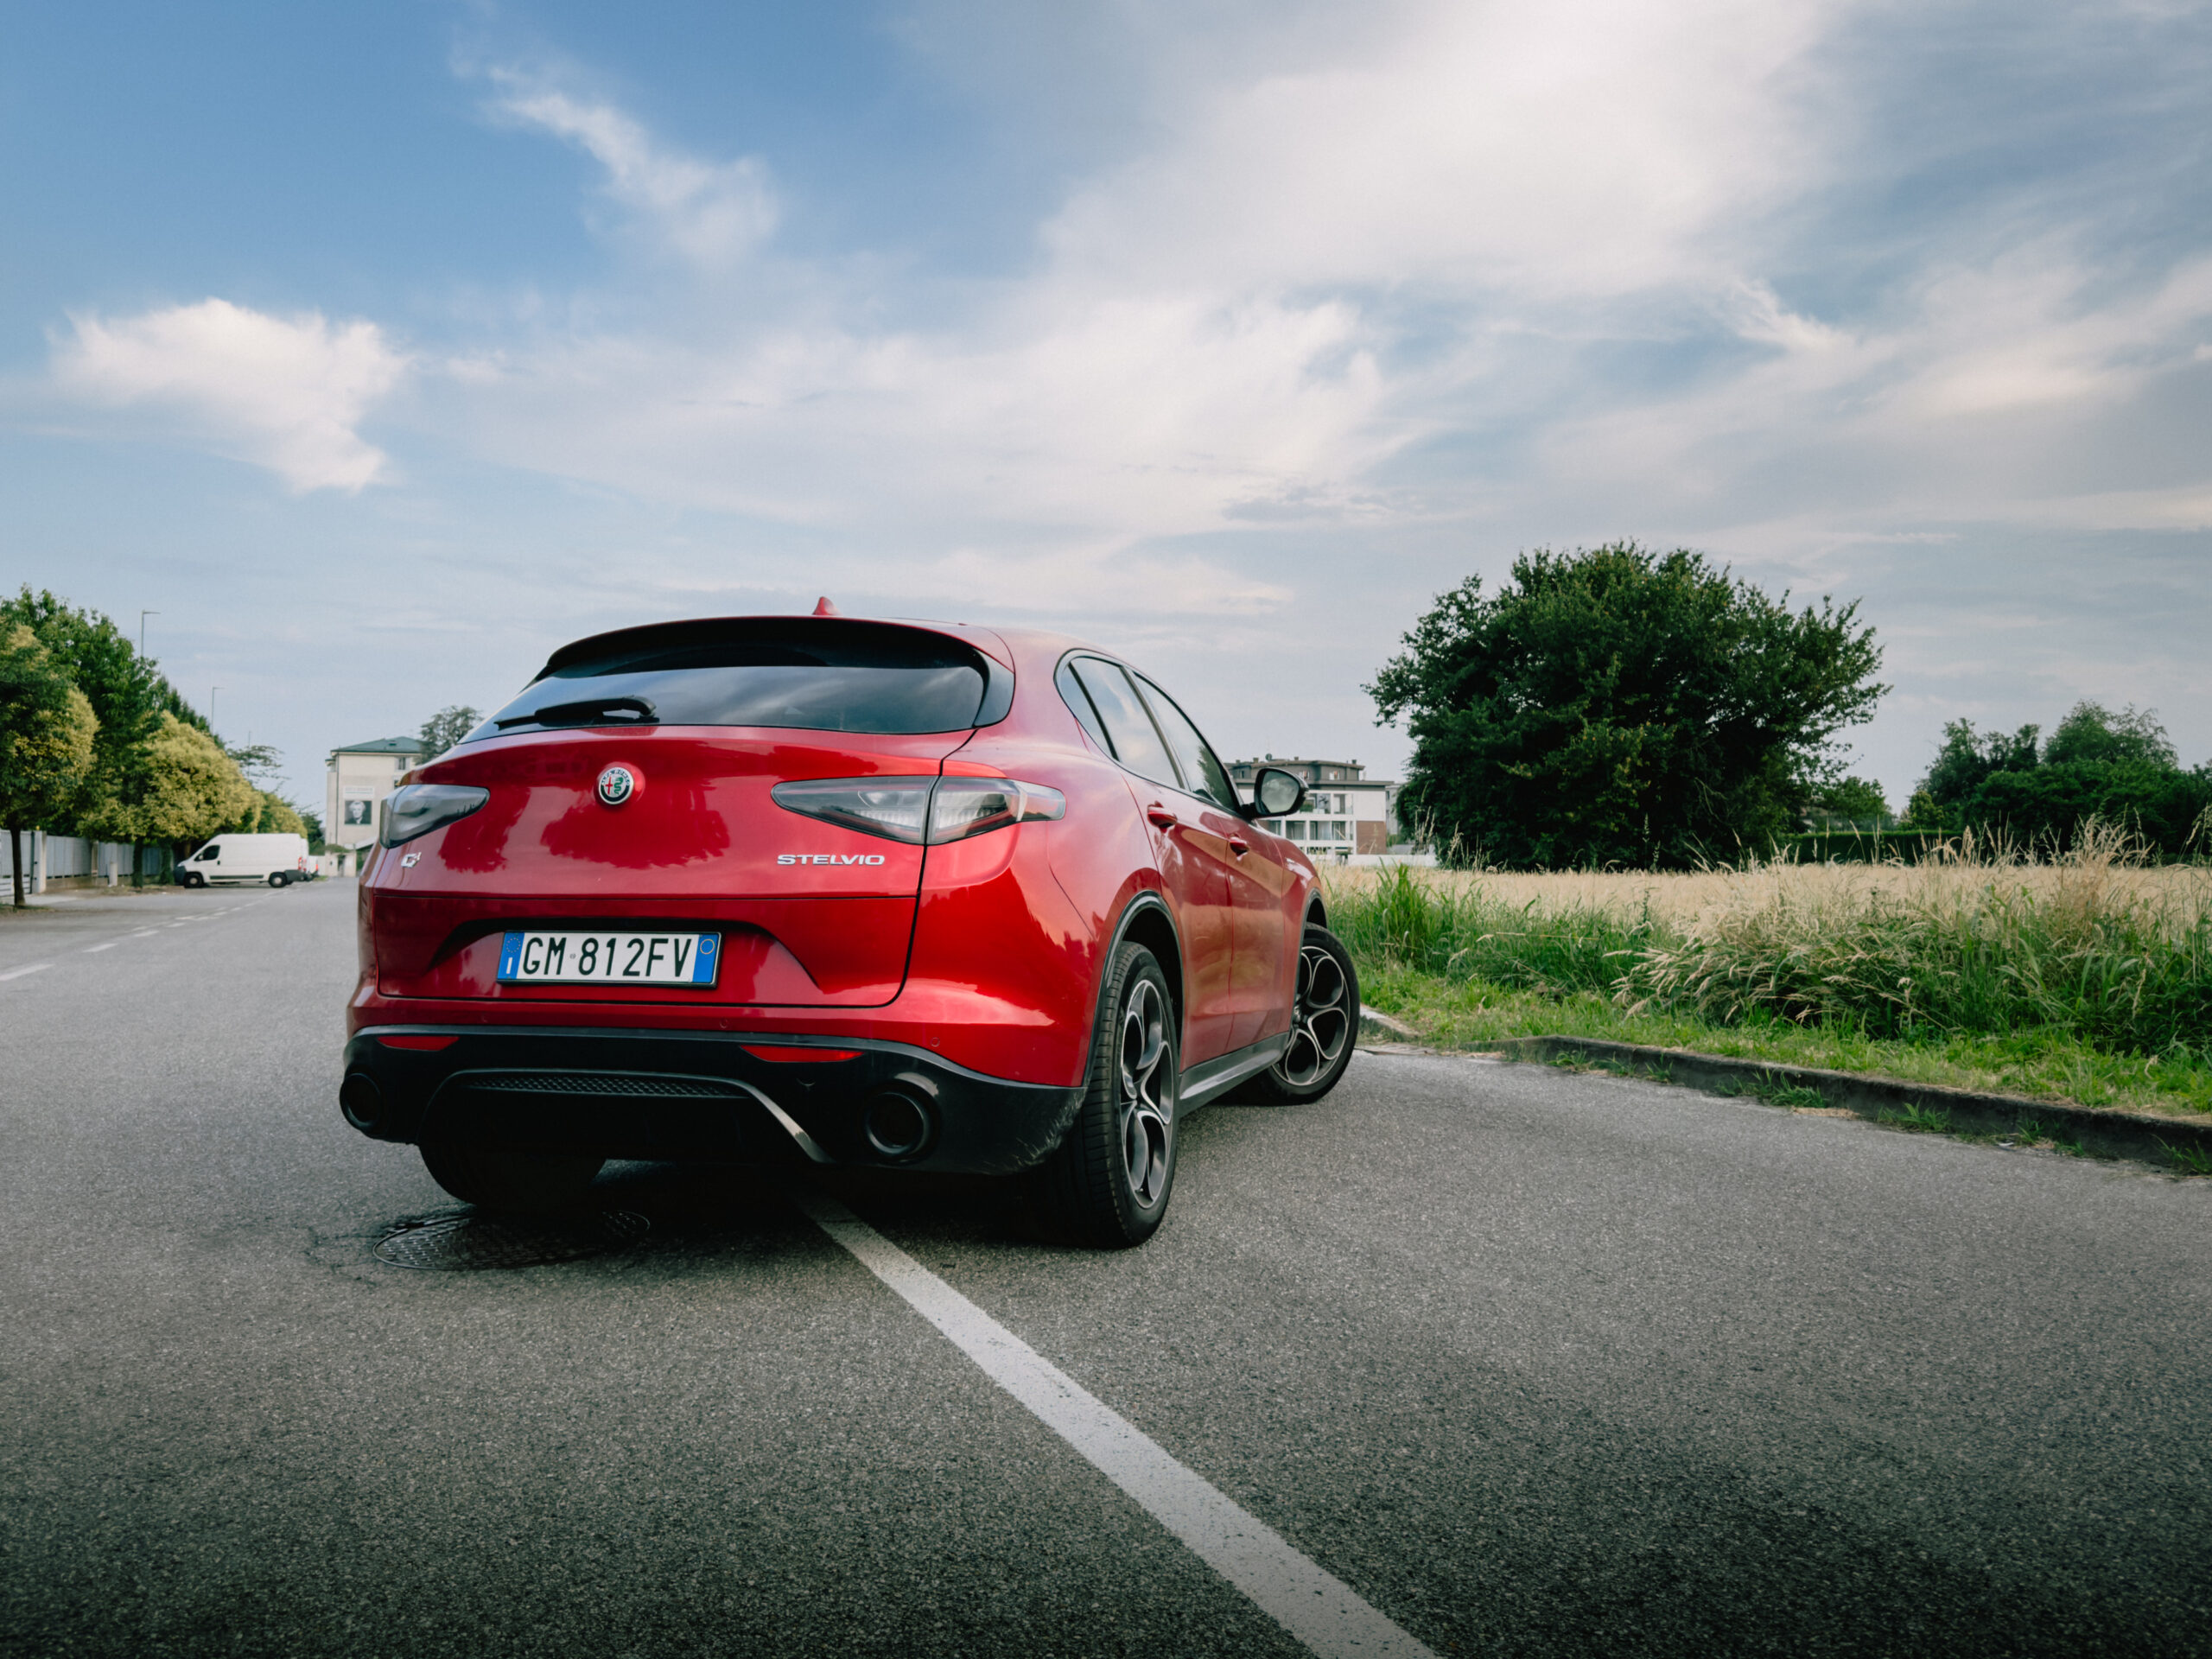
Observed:
[[[1009,1175],[1141,1243],[1194,1108],[1325,1095],[1358,982],[1314,867],[1157,684],[1044,633],[622,628],[385,803],[347,1121],[487,1210],[606,1159]]]

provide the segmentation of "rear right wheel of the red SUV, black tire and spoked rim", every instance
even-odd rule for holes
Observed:
[[[1091,1086],[1033,1179],[1044,1230],[1093,1250],[1150,1239],[1175,1194],[1181,1040],[1168,975],[1141,945],[1115,951],[1091,1037]]]

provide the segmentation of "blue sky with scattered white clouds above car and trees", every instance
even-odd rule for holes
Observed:
[[[1225,757],[1526,549],[2212,759],[2212,7],[0,7],[0,582],[321,801],[679,615],[1044,626]]]

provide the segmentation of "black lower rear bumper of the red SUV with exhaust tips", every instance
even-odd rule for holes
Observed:
[[[748,1051],[763,1046],[852,1057]],[[1060,1146],[1082,1088],[1018,1084],[856,1037],[392,1024],[345,1044],[341,1102],[354,1128],[385,1141],[1009,1175]],[[916,1117],[920,1144],[905,1146]]]

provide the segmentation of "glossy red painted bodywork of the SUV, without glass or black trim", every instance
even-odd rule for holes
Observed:
[[[385,1024],[646,1029],[905,1044],[1020,1084],[1084,1077],[1108,947],[1157,896],[1186,1066],[1287,1031],[1312,902],[1303,852],[1117,765],[1053,684],[1073,639],[947,624],[1013,670],[973,732],[836,737],[772,728],[582,728],[465,743],[411,774],[491,792],[476,814],[378,854],[361,891],[349,1031]],[[622,807],[595,796],[619,761]],[[785,779],[1011,776],[1060,790],[1060,821],[936,847],[776,807]],[[1172,814],[1157,827],[1152,805]],[[1243,849],[1239,852],[1239,843]],[[398,852],[414,854],[414,863]],[[776,865],[860,852],[880,865]],[[719,931],[690,987],[502,987],[511,927]],[[761,1053],[774,1042],[745,1044]],[[799,1046],[792,1060],[825,1051]],[[776,1055],[779,1060],[783,1055]]]

